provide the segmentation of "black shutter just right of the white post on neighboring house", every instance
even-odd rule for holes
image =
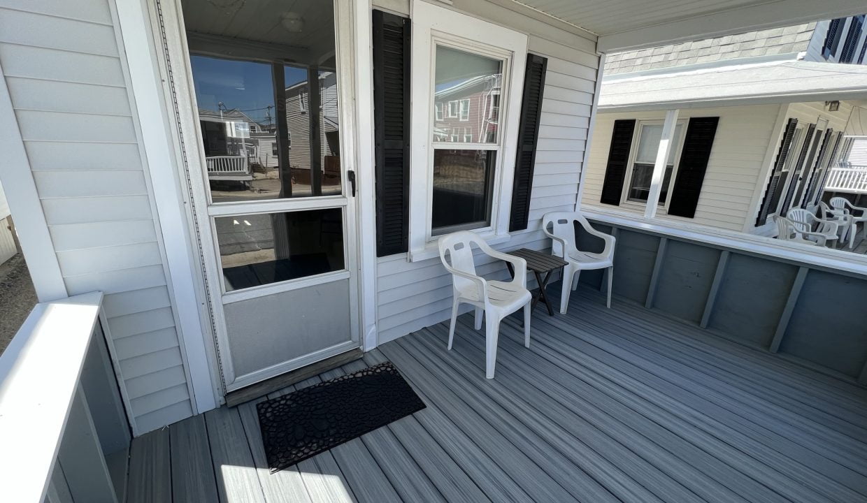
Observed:
[[[707,171],[707,160],[714,147],[716,126],[719,117],[693,117],[689,119],[687,136],[683,140],[681,162],[677,168],[675,189],[672,190],[671,202],[668,203],[668,215],[695,216],[695,207],[699,203],[701,184]]]

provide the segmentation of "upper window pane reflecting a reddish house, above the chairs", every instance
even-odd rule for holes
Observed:
[[[502,76],[500,60],[437,46],[433,140],[496,143]]]

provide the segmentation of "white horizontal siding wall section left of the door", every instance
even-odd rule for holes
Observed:
[[[114,25],[105,0],[0,0],[0,64],[63,280],[106,294],[143,433],[192,404]]]

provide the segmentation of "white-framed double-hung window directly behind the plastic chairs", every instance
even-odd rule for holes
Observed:
[[[413,8],[412,114],[427,124],[410,141],[408,248],[417,261],[436,256],[437,237],[456,230],[508,236],[527,37],[432,3]],[[495,92],[499,126],[488,132]],[[446,123],[436,120],[437,103]]]

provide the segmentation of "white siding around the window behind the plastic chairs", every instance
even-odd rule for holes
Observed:
[[[508,28],[529,31],[530,52],[548,58],[530,221],[526,230],[511,233],[508,242],[495,248],[550,249],[551,240],[542,233],[541,218],[549,211],[575,208],[599,58],[592,54],[593,44],[586,39],[518,16],[512,10],[484,4],[486,12],[482,17]],[[459,6],[466,10],[478,8],[472,3],[455,2],[455,7]],[[569,37],[575,40],[567,45]],[[501,261],[486,260],[484,255],[479,255],[476,265],[480,274],[507,274]],[[380,344],[448,319],[451,313],[452,277],[442,267],[439,257],[415,262],[408,262],[406,254],[381,258],[377,290]]]

